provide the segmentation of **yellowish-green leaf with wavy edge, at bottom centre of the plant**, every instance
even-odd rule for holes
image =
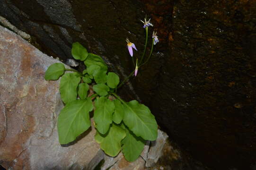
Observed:
[[[100,144],[100,148],[109,156],[116,156],[121,150],[121,140],[125,137],[125,130],[114,123],[109,128],[106,135],[101,135],[98,131],[95,140]]]

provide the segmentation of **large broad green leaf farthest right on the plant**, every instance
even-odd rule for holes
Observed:
[[[158,125],[149,108],[136,100],[124,103],[124,124],[145,140],[156,140]]]

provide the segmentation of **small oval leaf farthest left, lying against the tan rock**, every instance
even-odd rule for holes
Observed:
[[[65,67],[62,63],[54,63],[45,72],[45,80],[57,80],[64,74]]]

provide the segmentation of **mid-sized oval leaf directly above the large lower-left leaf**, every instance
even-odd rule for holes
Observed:
[[[80,77],[77,73],[66,73],[62,76],[60,84],[61,98],[64,103],[71,102],[77,98],[77,86]]]

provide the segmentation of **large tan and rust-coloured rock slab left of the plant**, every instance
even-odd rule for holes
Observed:
[[[59,81],[44,80],[55,62],[0,26],[0,164],[6,169],[93,170],[103,158],[93,128],[69,146],[59,144]]]

